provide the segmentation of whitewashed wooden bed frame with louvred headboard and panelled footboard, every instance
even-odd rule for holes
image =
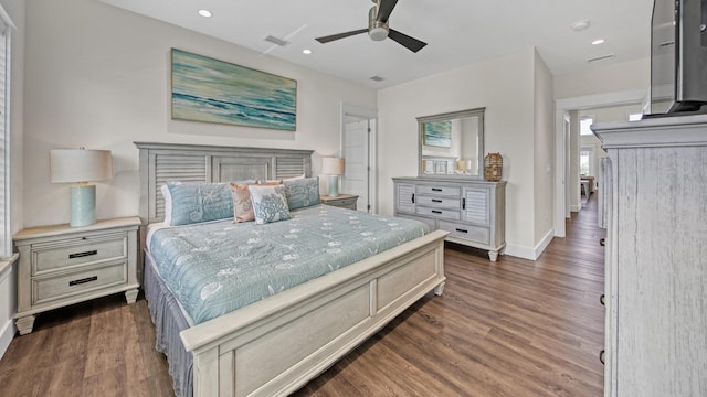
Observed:
[[[168,180],[312,173],[308,150],[135,144],[144,225],[162,219],[159,189]],[[182,331],[182,343],[193,354],[194,396],[276,396],[300,388],[420,298],[432,290],[442,293],[445,236],[430,233]]]

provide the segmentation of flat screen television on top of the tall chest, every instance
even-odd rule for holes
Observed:
[[[654,0],[648,115],[707,112],[707,0]]]

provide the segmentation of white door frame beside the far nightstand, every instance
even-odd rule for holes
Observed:
[[[371,214],[378,214],[378,110],[341,103],[341,120],[339,136],[339,153],[344,153],[344,128],[346,116],[358,117],[369,121],[368,133],[368,195]],[[372,121],[372,122],[371,122]],[[372,127],[371,124],[373,125]]]

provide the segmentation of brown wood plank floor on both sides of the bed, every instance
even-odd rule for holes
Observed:
[[[428,296],[296,396],[601,396],[603,248],[595,197],[537,261],[450,245]],[[0,394],[171,396],[144,299],[39,315],[0,361]]]

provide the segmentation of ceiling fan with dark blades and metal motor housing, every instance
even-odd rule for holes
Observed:
[[[368,35],[373,41],[381,41],[386,40],[386,37],[390,37],[414,53],[428,45],[428,43],[388,28],[388,18],[390,17],[390,13],[393,12],[393,8],[398,3],[398,0],[373,0],[373,3],[376,3],[376,6],[371,7],[370,11],[368,11],[368,28],[331,34],[324,37],[317,37],[315,40],[319,43],[328,43],[335,40],[368,32]]]

